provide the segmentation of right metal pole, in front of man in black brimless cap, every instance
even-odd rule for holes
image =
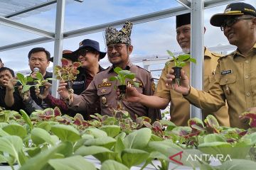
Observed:
[[[197,64],[191,63],[191,86],[203,89],[203,0],[191,1],[191,55]],[[201,109],[191,106],[191,118],[201,118]]]

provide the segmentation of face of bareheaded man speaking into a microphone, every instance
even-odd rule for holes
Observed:
[[[35,52],[31,54],[28,60],[28,65],[33,72],[35,67],[38,67],[41,74],[46,73],[46,68],[49,66],[50,62],[47,60],[46,52]]]

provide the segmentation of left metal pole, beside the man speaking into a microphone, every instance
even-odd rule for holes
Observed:
[[[65,0],[57,0],[56,21],[55,21],[55,42],[54,42],[54,60],[53,67],[60,65],[63,50],[63,32],[64,32],[64,15],[65,14]],[[53,75],[55,78],[55,75]],[[53,81],[52,95],[58,98],[58,81]]]

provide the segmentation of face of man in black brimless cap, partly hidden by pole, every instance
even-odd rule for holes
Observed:
[[[176,28],[176,40],[184,53],[190,53],[191,48],[191,24]]]

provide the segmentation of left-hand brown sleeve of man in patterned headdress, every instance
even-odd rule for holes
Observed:
[[[86,111],[89,105],[92,105],[99,100],[99,96],[97,96],[95,79],[92,80],[85,91],[82,91],[82,94],[73,94],[73,98],[73,103],[68,105],[68,108],[72,109],[73,111]]]

